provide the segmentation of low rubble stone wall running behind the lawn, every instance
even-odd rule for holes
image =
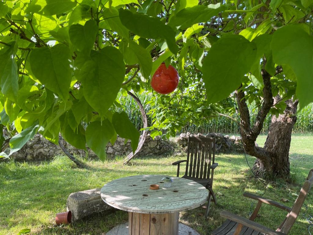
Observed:
[[[154,139],[151,138],[150,134],[148,134],[146,141],[138,153],[139,156],[148,156],[148,155],[162,155],[162,154],[172,154],[175,150],[175,146],[180,146],[181,148],[176,148],[177,153],[181,152],[181,149],[185,149],[188,143],[188,137],[192,136],[193,134],[182,133],[178,138],[176,138],[175,142],[169,140],[162,140],[159,136],[156,136]],[[194,135],[195,136],[195,135]],[[216,138],[216,150],[222,152],[230,152],[240,150],[242,148],[239,146],[241,143],[240,137],[229,137],[228,135],[222,135],[219,133],[209,133],[203,135],[198,133],[196,136],[202,137],[215,137]],[[141,137],[140,137],[141,138]],[[64,147],[68,149],[68,151],[72,154],[80,155],[85,157],[85,151],[81,149],[76,149],[75,147],[71,146],[69,143],[61,140]],[[87,148],[88,156],[90,158],[97,158],[95,153]],[[108,143],[106,146],[106,153],[108,159],[113,159],[115,156],[126,156],[132,151],[131,149],[131,141],[128,140],[125,143],[125,139],[121,137],[117,137],[115,143],[112,145]],[[55,155],[63,154],[62,149],[59,145],[55,145],[45,138],[42,135],[37,134],[33,137],[33,139],[29,140],[22,149],[18,152],[12,154],[14,160],[17,161],[37,161],[37,160],[49,160],[53,158]]]

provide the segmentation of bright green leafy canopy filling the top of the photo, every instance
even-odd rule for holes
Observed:
[[[312,9],[311,0],[0,2],[0,121],[11,153],[37,131],[53,143],[61,133],[78,148],[87,144],[101,159],[117,134],[135,151],[139,132],[116,111],[116,97],[152,92],[162,62],[181,81],[173,94],[152,96],[151,130],[173,135],[227,107],[214,103],[239,86],[261,105],[264,70],[273,96],[304,107],[313,102]]]

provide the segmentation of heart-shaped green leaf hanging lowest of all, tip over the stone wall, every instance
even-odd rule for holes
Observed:
[[[87,146],[95,152],[95,154],[104,161],[106,159],[106,144],[114,135],[114,128],[108,119],[101,122],[96,121],[90,123],[86,128]]]

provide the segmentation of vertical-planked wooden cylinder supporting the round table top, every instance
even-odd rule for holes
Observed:
[[[128,235],[178,235],[179,213],[128,212]]]

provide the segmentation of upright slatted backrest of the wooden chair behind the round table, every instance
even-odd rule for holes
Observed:
[[[215,138],[189,137],[185,175],[197,179],[210,178],[215,158]]]

